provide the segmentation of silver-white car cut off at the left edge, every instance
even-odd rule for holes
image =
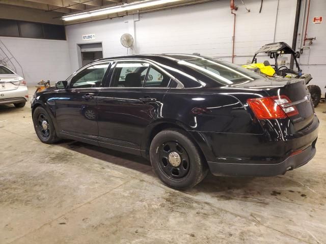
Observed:
[[[0,65],[0,105],[13,103],[16,108],[22,108],[27,101],[29,93],[24,78]]]

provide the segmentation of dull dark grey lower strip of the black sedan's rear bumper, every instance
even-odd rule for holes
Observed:
[[[239,163],[218,163],[208,162],[213,175],[230,176],[276,176],[284,174],[308,163],[316,154],[315,142],[302,151],[288,157],[278,164],[239,164]]]

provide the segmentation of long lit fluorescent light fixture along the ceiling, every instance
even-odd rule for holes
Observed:
[[[180,1],[182,0],[144,0],[144,1],[134,2],[130,4],[123,4],[115,7],[92,10],[92,11],[78,13],[78,14],[70,14],[70,15],[62,16],[62,19],[65,21],[83,19],[83,18],[88,18],[93,16],[114,14],[119,12],[142,9],[142,8],[156,6],[156,5],[169,4],[169,3],[180,2]]]

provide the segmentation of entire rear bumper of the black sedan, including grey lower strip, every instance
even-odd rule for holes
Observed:
[[[214,175],[275,176],[313,158],[318,126],[319,120],[314,116],[309,126],[293,134],[284,134],[278,140],[265,134],[205,132],[201,133],[203,142],[198,144]]]

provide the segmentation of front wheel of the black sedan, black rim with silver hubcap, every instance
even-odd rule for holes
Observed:
[[[52,119],[44,108],[37,107],[34,110],[33,124],[36,135],[43,143],[52,144],[60,140],[57,137]]]

